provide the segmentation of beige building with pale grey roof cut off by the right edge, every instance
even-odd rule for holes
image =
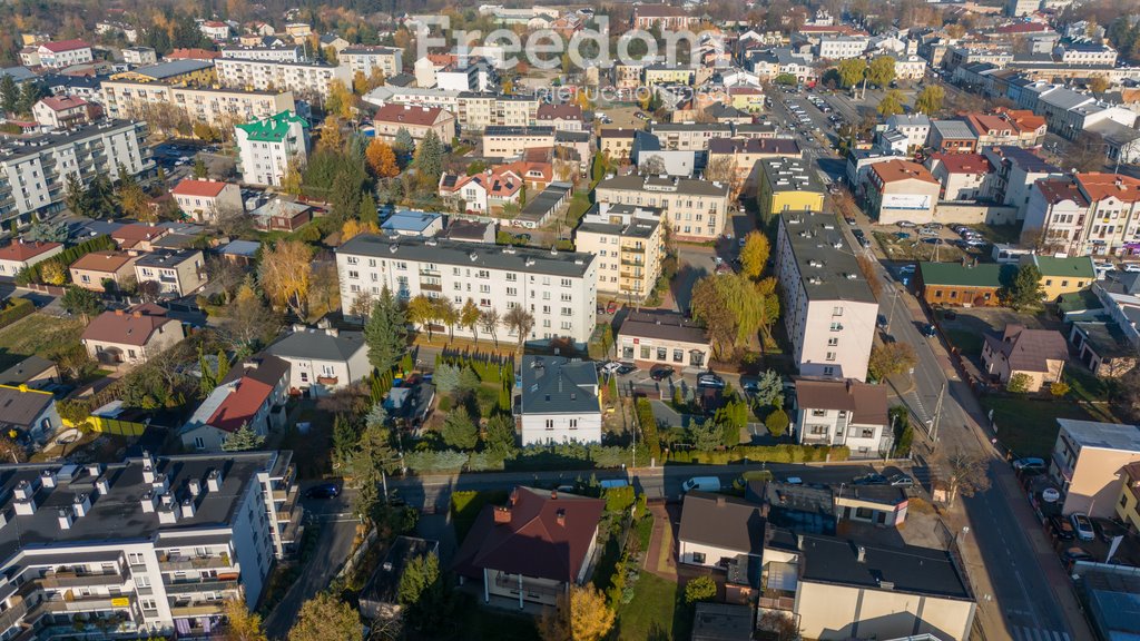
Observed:
[[[1057,419],[1057,424],[1049,474],[1065,497],[1061,513],[1112,518],[1121,497],[1121,470],[1140,461],[1140,425],[1069,419]]]

